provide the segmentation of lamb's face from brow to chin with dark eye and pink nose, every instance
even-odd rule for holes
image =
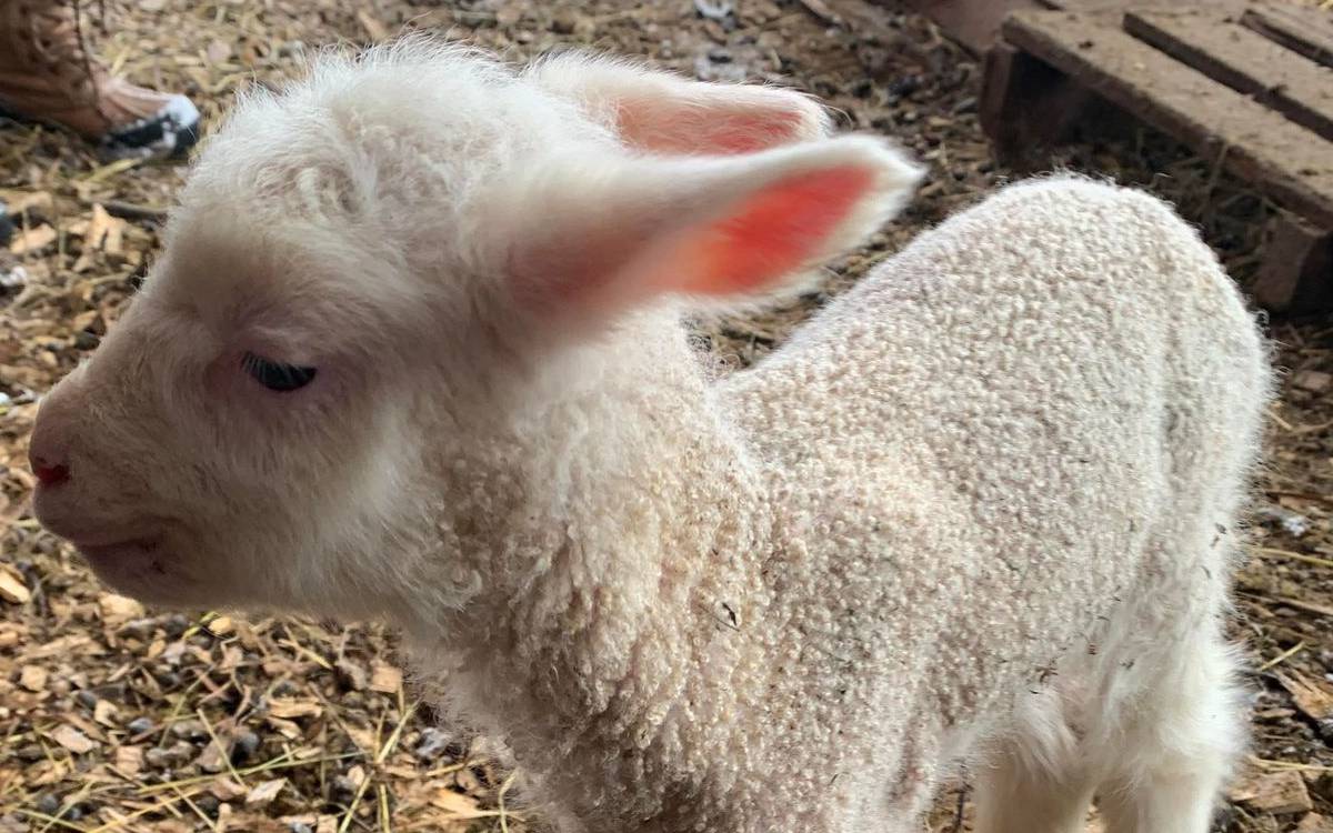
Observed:
[[[177,231],[41,405],[39,517],[148,601],[384,604],[392,569],[373,558],[421,444],[409,380],[429,388],[436,372],[412,356],[421,316],[349,283],[392,280],[392,265],[320,263],[221,217]]]

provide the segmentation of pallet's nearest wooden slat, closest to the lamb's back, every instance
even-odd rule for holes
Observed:
[[[1333,228],[1333,143],[1125,32],[1068,12],[1017,12],[1004,37],[1278,203]]]

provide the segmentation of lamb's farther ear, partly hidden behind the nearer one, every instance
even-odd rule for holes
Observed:
[[[611,124],[627,145],[655,153],[750,153],[829,133],[818,103],[778,87],[692,81],[580,53],[529,72]]]

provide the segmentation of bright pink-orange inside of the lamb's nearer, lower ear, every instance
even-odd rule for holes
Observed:
[[[854,165],[802,173],[765,188],[655,269],[668,292],[753,292],[821,255],[828,237],[874,183]]]

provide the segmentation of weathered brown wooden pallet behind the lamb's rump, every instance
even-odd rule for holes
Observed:
[[[986,53],[981,120],[997,156],[1024,167],[1077,125],[1129,113],[1280,207],[1253,287],[1260,304],[1333,309],[1333,13],[1058,1],[1080,8],[1014,12]]]

